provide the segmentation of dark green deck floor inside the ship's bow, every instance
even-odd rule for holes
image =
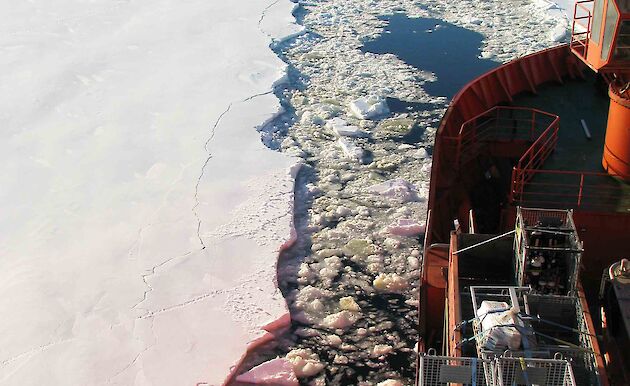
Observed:
[[[513,104],[560,117],[555,151],[525,189],[523,205],[630,212],[630,184],[598,175],[604,173],[601,161],[609,99],[595,75],[587,73],[584,80],[540,86],[537,94],[519,95]],[[586,137],[581,120],[586,122],[591,139]]]

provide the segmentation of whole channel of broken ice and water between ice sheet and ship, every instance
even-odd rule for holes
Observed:
[[[306,33],[274,46],[289,65],[277,90],[286,114],[262,129],[270,147],[304,160],[297,241],[278,268],[292,325],[240,379],[291,368],[301,384],[412,384],[431,147],[447,97],[555,44],[546,28],[558,20],[529,0],[299,3]]]

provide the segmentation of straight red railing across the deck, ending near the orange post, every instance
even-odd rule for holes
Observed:
[[[529,175],[531,181],[512,180],[511,199],[516,204],[616,210],[624,197],[623,183],[608,173],[514,168],[513,176],[518,174]]]

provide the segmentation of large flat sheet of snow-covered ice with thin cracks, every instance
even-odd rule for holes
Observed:
[[[0,384],[221,384],[281,318],[288,0],[0,13]]]

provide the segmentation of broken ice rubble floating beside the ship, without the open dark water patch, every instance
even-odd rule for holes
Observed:
[[[382,31],[379,16],[392,12],[477,31],[485,36],[480,55],[500,62],[567,39],[561,27],[566,31],[568,23],[533,0],[509,7],[502,0],[426,0],[422,7],[413,0],[299,3],[307,32],[278,46],[299,79],[300,87],[283,91],[295,119],[288,133],[286,126],[271,124],[264,134],[276,138],[282,151],[300,154],[316,174],[301,196],[312,204],[298,229],[310,243],[297,252],[299,262],[281,269],[292,317],[301,325],[295,345],[281,349],[330,352],[326,372],[307,377],[314,385],[406,384],[413,374],[397,373],[373,354],[391,346],[410,354],[412,369],[422,256],[409,236],[424,231],[429,154],[448,101],[424,91],[425,83],[439,81],[433,74],[359,48]],[[388,97],[433,108],[386,115]],[[424,130],[420,143],[401,144],[414,126]],[[345,309],[350,302],[341,299],[348,298],[360,311]],[[375,299],[387,301],[388,309],[375,309]],[[370,376],[353,378],[360,365]]]

